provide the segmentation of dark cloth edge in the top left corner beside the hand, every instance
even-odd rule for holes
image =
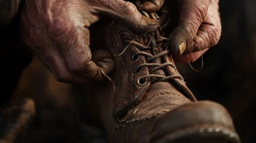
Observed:
[[[20,0],[0,0],[0,29],[7,26],[18,12]]]

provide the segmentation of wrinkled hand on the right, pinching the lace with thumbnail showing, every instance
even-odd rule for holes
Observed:
[[[170,35],[170,46],[177,60],[197,60],[208,48],[216,45],[221,35],[219,0],[144,0],[139,10],[155,12],[165,4],[177,16]],[[201,51],[201,52],[199,52]]]

